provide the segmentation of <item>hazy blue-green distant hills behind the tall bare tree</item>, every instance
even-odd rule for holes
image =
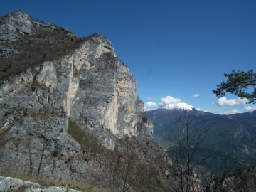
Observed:
[[[177,127],[179,109],[164,109],[145,112],[154,124],[154,141],[161,143],[169,139]],[[181,112],[182,113],[182,112]],[[220,115],[198,111],[195,108],[187,112],[196,115],[195,122],[210,127],[202,147],[210,148],[213,154],[227,151],[237,157],[238,168],[255,164],[256,111],[239,114]],[[255,156],[256,157],[256,156]]]

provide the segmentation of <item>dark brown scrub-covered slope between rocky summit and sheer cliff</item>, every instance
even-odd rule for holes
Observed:
[[[65,28],[55,26],[52,31],[36,28],[35,35],[24,35],[20,41],[0,42],[0,46],[18,50],[18,54],[0,58],[0,84],[2,80],[18,75],[28,68],[33,68],[47,60],[56,60],[73,53],[82,43],[93,36],[78,38],[69,36]]]

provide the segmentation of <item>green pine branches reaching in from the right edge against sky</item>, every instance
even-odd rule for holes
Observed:
[[[228,78],[227,82],[221,82],[217,85],[217,89],[213,90],[217,97],[223,97],[226,92],[230,92],[238,97],[247,98],[249,103],[256,103],[256,73],[253,73],[253,70],[248,72],[232,70],[232,73],[225,73],[224,76]],[[251,93],[247,92],[249,87],[253,88]]]

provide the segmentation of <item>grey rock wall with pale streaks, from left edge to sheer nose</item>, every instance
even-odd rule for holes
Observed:
[[[143,115],[134,76],[101,35],[92,36],[65,58],[41,63],[6,82],[0,89],[0,105],[1,129],[10,122],[5,114],[14,112],[23,119],[24,113],[29,116],[49,105],[63,108],[65,118],[92,132],[108,130],[117,138],[151,137],[153,132]]]

